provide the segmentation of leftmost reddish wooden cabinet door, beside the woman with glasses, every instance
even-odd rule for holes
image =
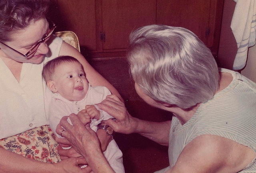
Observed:
[[[95,0],[55,0],[58,30],[71,30],[78,36],[80,47],[96,50]],[[61,29],[60,29],[61,28]]]

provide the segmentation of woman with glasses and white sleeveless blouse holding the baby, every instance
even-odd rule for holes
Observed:
[[[49,2],[0,1],[0,172],[79,172],[77,165],[84,164],[76,158],[56,163],[57,143],[46,126],[51,94],[42,80],[46,62],[76,57],[92,85],[120,96],[75,48],[53,35],[56,26],[45,17]]]

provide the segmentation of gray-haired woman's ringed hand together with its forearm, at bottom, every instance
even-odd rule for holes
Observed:
[[[90,124],[84,126],[76,114],[70,114],[69,118],[73,125],[68,123],[68,116],[64,116],[60,120],[60,126],[65,130],[56,129],[56,132],[62,134],[76,152],[82,154],[94,172],[104,172],[106,168],[108,172],[114,172],[104,157],[98,136],[90,128]]]

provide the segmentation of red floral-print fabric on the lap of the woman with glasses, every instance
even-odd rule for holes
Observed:
[[[34,128],[0,140],[0,147],[30,159],[46,163],[59,162],[58,143],[50,126]]]

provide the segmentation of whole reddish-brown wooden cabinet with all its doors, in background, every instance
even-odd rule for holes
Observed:
[[[82,52],[124,55],[131,31],[165,24],[190,29],[217,55],[224,0],[52,0],[58,30],[72,30]]]

